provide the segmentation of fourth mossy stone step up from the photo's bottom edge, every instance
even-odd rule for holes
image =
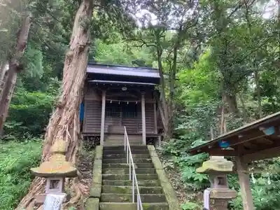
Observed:
[[[158,179],[151,180],[137,180],[138,186],[160,186]],[[132,181],[125,180],[102,180],[103,186],[132,186]]]

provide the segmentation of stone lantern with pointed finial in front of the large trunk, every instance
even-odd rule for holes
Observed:
[[[71,162],[66,161],[66,142],[55,141],[50,148],[51,156],[48,161],[42,162],[39,167],[32,168],[31,172],[36,176],[44,177],[45,194],[36,197],[36,204],[43,204],[48,194],[64,195],[64,181],[66,177],[77,176],[77,169]]]

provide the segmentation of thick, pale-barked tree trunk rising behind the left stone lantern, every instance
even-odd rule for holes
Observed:
[[[78,111],[87,69],[92,9],[92,0],[83,0],[76,13],[70,49],[64,62],[62,95],[45,133],[42,162],[50,157],[50,146],[58,139],[63,139],[67,144],[66,160],[76,163],[80,131]],[[42,193],[44,187],[45,179],[36,177],[31,183],[29,193],[22,199],[17,209],[31,208],[35,196]],[[76,178],[71,181],[70,187],[76,196],[71,197],[68,204],[76,204],[82,198],[85,186]]]

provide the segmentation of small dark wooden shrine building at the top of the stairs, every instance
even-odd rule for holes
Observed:
[[[158,69],[89,63],[83,100],[84,139],[120,145],[126,127],[131,144],[157,141],[162,127],[155,97],[159,83]]]

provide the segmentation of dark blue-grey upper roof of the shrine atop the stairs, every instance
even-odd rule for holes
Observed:
[[[120,66],[107,64],[87,64],[87,73],[106,75],[133,76],[144,78],[160,78],[158,69],[148,67]]]

